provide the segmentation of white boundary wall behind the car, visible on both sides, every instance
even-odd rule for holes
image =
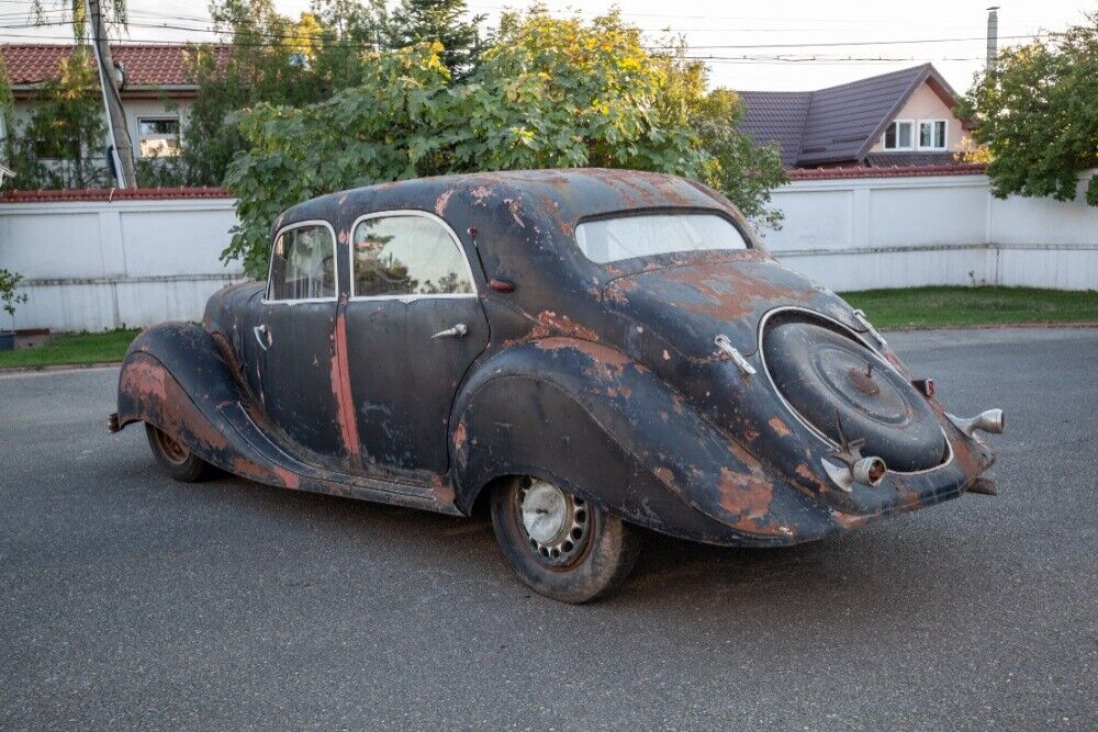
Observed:
[[[794,181],[764,234],[788,267],[837,291],[921,284],[1098,289],[1098,207],[991,196],[984,176]],[[16,327],[100,330],[198,320],[243,278],[219,255],[231,199],[0,203],[0,267],[30,301]],[[0,313],[0,316],[5,314]],[[7,327],[3,324],[2,327]]]

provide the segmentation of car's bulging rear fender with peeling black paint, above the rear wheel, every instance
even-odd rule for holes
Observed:
[[[798,491],[643,365],[612,348],[547,338],[500,352],[450,420],[457,504],[496,477],[560,483],[676,537],[783,545],[860,526]]]

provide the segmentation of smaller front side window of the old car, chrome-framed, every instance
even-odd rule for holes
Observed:
[[[336,243],[327,226],[290,228],[274,240],[267,300],[336,296]]]

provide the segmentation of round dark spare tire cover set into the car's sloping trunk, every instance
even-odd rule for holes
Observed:
[[[889,470],[941,464],[945,436],[925,397],[864,345],[802,320],[780,323],[763,337],[766,368],[800,417],[839,442],[864,439],[862,454]]]

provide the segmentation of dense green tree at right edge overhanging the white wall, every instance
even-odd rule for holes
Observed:
[[[1074,199],[1079,173],[1098,167],[1098,14],[1005,49],[954,112],[976,123],[973,139],[990,151],[995,195]],[[1086,198],[1098,206],[1098,176]]]

